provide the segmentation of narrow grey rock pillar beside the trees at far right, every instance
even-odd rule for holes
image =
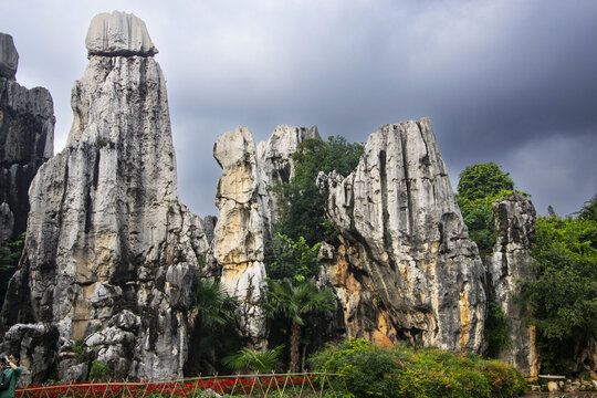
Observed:
[[[509,322],[512,337],[510,348],[501,349],[499,359],[519,368],[525,377],[538,376],[538,355],[535,327],[525,325],[526,311],[514,303],[520,293],[516,281],[534,277],[530,235],[535,231],[536,212],[533,203],[520,193],[493,203],[498,240],[488,258],[491,297],[500,303]]]

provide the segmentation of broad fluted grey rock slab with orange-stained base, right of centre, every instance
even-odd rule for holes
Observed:
[[[345,312],[347,333],[362,312],[369,313],[378,341],[479,350],[483,268],[429,119],[381,127],[355,172],[320,174],[317,185],[344,239],[342,261],[327,273],[346,268],[349,274],[332,281],[338,296],[355,301]],[[363,297],[374,298],[370,311],[362,308]]]

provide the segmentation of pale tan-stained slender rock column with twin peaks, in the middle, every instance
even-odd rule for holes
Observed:
[[[275,217],[268,187],[277,179],[289,181],[293,169],[291,155],[306,138],[318,138],[317,128],[283,125],[266,143],[255,146],[251,132],[239,127],[218,137],[213,147],[213,156],[222,168],[216,192],[220,217],[213,253],[222,266],[222,284],[241,301],[240,332],[255,347],[264,346],[268,334],[260,306],[266,286],[264,248]]]

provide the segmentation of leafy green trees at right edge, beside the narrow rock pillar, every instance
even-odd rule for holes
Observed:
[[[577,219],[537,219],[532,250],[536,280],[522,283],[544,373],[569,373],[573,356],[597,331],[596,198]]]

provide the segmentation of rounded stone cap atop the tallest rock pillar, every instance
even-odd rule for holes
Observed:
[[[134,14],[114,11],[93,18],[85,45],[90,55],[142,55],[157,54],[145,22]]]

